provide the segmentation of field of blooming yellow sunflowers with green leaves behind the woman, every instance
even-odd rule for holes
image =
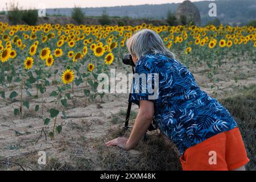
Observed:
[[[68,102],[76,94],[76,88],[84,86],[86,101],[101,100],[104,93],[97,93],[97,76],[109,74],[110,68],[121,68],[122,55],[127,53],[126,40],[134,32],[149,28],[158,32],[168,49],[187,67],[206,65],[211,88],[217,89],[214,78],[224,64],[222,60],[234,59],[234,67],[240,55],[247,64],[255,67],[256,28],[230,26],[88,26],[74,24],[40,24],[38,26],[15,25],[0,22],[0,96],[1,102],[19,102],[13,108],[15,117],[23,118],[24,109],[44,113],[44,94],[49,86],[55,90],[56,107],[49,108],[45,125],[54,122],[52,131],[60,133],[57,115],[67,117]],[[237,67],[236,69],[240,69]],[[14,88],[19,88],[15,89]],[[6,91],[10,94],[6,95]],[[32,94],[32,92],[36,94]],[[25,96],[24,96],[24,93]],[[30,104],[36,98],[36,105]],[[26,107],[26,108],[25,108]]]

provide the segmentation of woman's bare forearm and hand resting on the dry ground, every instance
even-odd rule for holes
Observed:
[[[107,146],[119,146],[130,150],[146,133],[154,115],[154,102],[147,100],[139,101],[139,113],[135,119],[133,130],[131,131],[129,139],[125,137],[115,138],[106,142]]]

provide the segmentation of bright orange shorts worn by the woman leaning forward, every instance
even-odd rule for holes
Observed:
[[[238,127],[189,147],[180,156],[184,171],[232,170],[249,161]]]

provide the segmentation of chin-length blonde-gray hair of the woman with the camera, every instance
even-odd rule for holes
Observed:
[[[169,58],[175,58],[174,53],[167,49],[160,36],[152,30],[143,29],[131,36],[126,46],[129,52],[138,59],[147,54],[162,54]]]

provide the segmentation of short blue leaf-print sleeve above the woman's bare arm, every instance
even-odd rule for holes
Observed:
[[[158,96],[156,94],[158,92],[157,76],[154,73],[152,64],[148,61],[141,60],[135,67],[130,101],[137,105],[139,105],[139,100],[154,102],[157,98],[156,96]]]

